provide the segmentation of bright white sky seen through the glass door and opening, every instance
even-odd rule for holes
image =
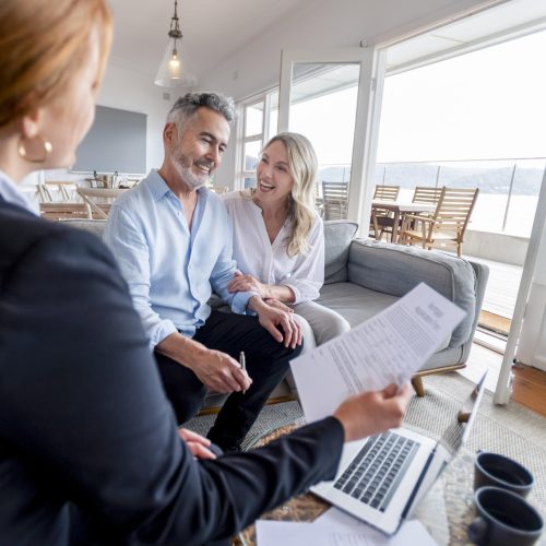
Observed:
[[[388,76],[378,162],[546,157],[546,32]],[[356,87],[300,103],[290,130],[351,163]]]

